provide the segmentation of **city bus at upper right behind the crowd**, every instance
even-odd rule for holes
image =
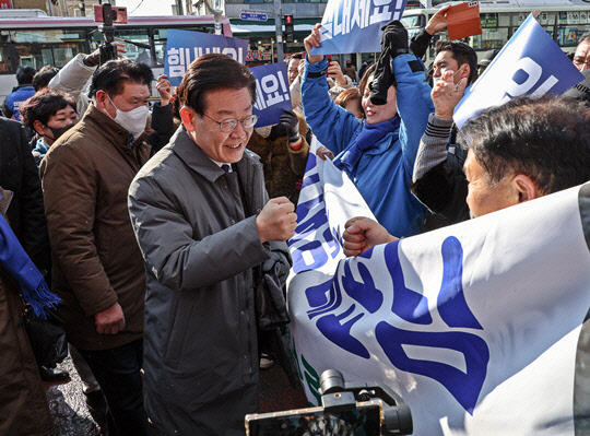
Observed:
[[[448,4],[444,3],[444,4]],[[426,26],[428,20],[444,4],[429,3],[427,9],[406,9],[401,19],[410,37]],[[551,1],[480,1],[482,34],[463,39],[481,58],[485,51],[500,49],[515,34],[517,28],[532,11],[540,10],[536,17],[553,40],[570,52],[576,49],[579,37],[590,31],[590,2],[585,0]],[[440,32],[438,38],[448,39],[447,32]],[[425,64],[434,60],[434,44],[425,56]]]

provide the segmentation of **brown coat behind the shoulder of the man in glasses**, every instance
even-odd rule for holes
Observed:
[[[309,144],[305,140],[309,128],[303,117],[297,116],[297,118],[299,119],[299,134],[303,139],[300,150],[293,151],[286,137],[271,141],[269,138],[262,138],[256,130],[247,146],[248,150],[260,156],[264,170],[264,185],[270,198],[284,196],[295,204],[299,198],[297,181],[305,174],[307,155],[309,154]]]

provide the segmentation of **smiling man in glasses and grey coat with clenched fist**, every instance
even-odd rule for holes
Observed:
[[[164,435],[244,435],[258,410],[253,270],[282,296],[297,216],[285,197],[268,199],[246,150],[249,70],[201,56],[178,96],[182,126],[129,189],[148,275],[145,408]]]

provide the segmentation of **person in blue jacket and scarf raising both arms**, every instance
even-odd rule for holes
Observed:
[[[320,44],[319,26],[305,39],[308,55],[302,94],[307,123],[319,142],[337,155],[334,164],[349,174],[386,228],[394,235],[414,235],[422,229],[425,209],[408,185],[420,137],[434,110],[424,67],[410,54],[403,25],[388,24],[389,37],[381,42],[384,62],[378,62],[375,70],[367,69],[361,81],[366,118],[358,122],[353,114],[330,101],[324,79],[328,60],[310,54]],[[393,81],[386,80],[381,73],[385,70]],[[382,97],[378,103],[385,104],[373,102],[376,83]]]

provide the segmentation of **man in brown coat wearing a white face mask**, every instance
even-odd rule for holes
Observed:
[[[103,390],[109,435],[149,432],[140,373],[145,271],[127,192],[150,158],[144,140],[153,79],[150,67],[132,60],[99,67],[84,117],[39,168],[51,288],[63,301],[58,316]]]

